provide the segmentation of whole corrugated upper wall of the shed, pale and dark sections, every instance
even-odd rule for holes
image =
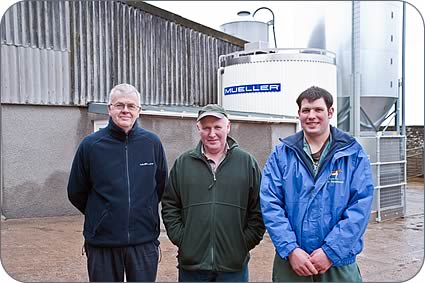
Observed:
[[[145,105],[205,105],[217,101],[219,55],[241,49],[121,2],[23,1],[1,23],[1,101],[106,102],[127,82]]]

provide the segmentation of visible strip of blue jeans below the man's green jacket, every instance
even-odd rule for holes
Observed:
[[[236,272],[185,270],[179,268],[179,282],[248,282],[248,264]]]

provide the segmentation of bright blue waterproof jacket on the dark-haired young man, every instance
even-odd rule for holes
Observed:
[[[264,224],[280,257],[322,248],[334,266],[354,263],[373,201],[370,163],[361,145],[331,127],[332,144],[313,176],[300,131],[277,145],[261,181]]]

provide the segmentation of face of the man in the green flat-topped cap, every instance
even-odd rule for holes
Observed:
[[[206,116],[198,122],[198,132],[204,150],[207,153],[219,153],[224,151],[226,146],[230,122],[226,118],[219,119],[214,116]]]

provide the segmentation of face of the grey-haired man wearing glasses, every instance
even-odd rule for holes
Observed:
[[[128,133],[140,113],[137,96],[125,93],[113,95],[111,105],[108,106],[108,113],[112,121]]]

